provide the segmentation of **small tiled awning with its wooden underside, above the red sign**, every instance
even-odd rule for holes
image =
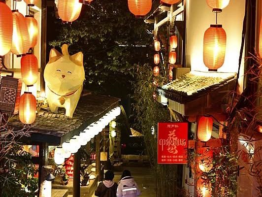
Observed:
[[[221,101],[235,81],[236,73],[191,71],[159,87],[158,101],[186,116],[221,112]]]

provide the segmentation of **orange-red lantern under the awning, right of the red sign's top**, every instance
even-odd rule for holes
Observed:
[[[202,116],[198,121],[197,136],[200,141],[207,142],[211,138],[213,119]]]

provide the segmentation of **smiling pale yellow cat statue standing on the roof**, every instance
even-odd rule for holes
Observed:
[[[44,70],[45,93],[51,112],[57,113],[58,107],[64,107],[66,116],[72,118],[85,79],[83,53],[70,56],[67,44],[61,48],[62,54],[56,49],[50,51]]]

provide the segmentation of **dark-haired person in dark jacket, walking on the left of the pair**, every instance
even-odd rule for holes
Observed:
[[[114,172],[108,170],[104,174],[105,180],[98,185],[95,192],[97,197],[116,197],[117,183],[113,181]]]

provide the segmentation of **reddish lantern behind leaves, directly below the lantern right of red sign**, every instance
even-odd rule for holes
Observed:
[[[206,148],[206,147],[201,147],[199,151],[199,161],[198,161],[198,167],[200,170],[203,172],[208,172],[212,169],[213,167],[213,151]]]

